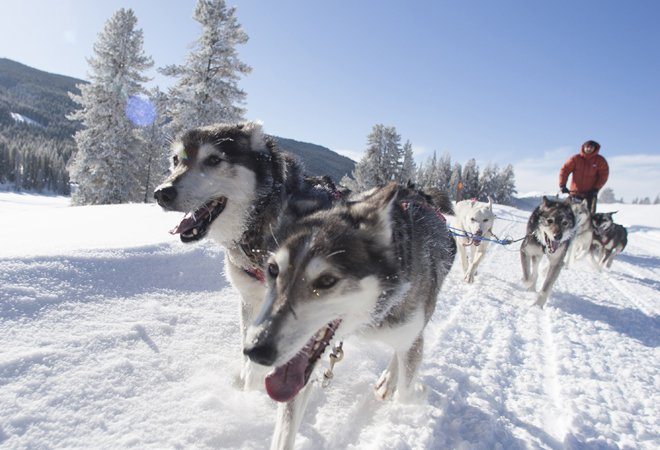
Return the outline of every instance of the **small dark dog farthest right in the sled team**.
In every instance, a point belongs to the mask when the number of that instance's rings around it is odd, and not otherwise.
[[[591,258],[599,270],[612,267],[614,257],[628,244],[628,231],[612,220],[615,213],[596,213],[591,219],[594,227]]]

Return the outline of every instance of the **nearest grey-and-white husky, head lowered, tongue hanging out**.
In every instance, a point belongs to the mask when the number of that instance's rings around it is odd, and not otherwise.
[[[451,202],[434,199],[391,183],[285,230],[268,260],[266,298],[244,348],[274,368],[266,391],[287,402],[271,448],[293,447],[305,385],[335,335],[358,332],[394,348],[374,387],[378,397],[405,401],[423,391],[415,381],[423,330],[456,253],[440,214],[451,213]]]

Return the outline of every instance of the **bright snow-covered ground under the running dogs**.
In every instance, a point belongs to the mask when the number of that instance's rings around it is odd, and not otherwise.
[[[297,448],[660,448],[660,206],[616,207],[625,253],[564,270],[544,310],[520,288],[519,244],[491,246],[474,285],[455,264],[426,404],[377,401],[387,348],[345,342]],[[524,234],[529,212],[496,212],[500,237]],[[179,219],[0,193],[0,447],[267,447],[274,403],[234,386],[222,251],[170,236]]]

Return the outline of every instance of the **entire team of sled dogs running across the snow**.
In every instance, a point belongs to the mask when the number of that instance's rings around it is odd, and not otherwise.
[[[454,206],[443,192],[395,183],[349,192],[329,177],[305,176],[253,122],[190,130],[173,152],[154,196],[185,213],[171,231],[183,242],[208,236],[225,248],[226,276],[241,297],[241,382],[265,386],[278,402],[271,448],[293,448],[316,363],[351,334],[393,349],[374,386],[378,398],[423,398],[416,375],[424,328],[457,251],[464,280],[474,281],[494,240],[490,199]],[[535,289],[545,255],[541,307],[565,260],[590,254],[610,267],[626,245],[614,213],[594,213],[594,196],[583,198],[544,197],[529,218],[523,283]]]

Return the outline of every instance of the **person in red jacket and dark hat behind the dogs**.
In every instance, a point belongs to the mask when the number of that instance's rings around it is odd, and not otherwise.
[[[600,144],[587,141],[582,144],[580,153],[573,155],[561,166],[559,171],[559,189],[576,199],[587,199],[591,213],[596,212],[598,191],[607,182],[610,168],[607,161],[598,154]],[[571,187],[566,187],[568,176],[573,174]]]

